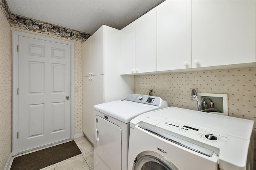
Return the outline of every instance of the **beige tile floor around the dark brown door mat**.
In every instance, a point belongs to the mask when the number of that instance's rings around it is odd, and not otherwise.
[[[43,168],[41,170],[92,170],[93,169],[93,146],[92,144],[88,141],[88,139],[83,136],[81,138],[76,138],[74,140],[81,150],[82,154],[79,154],[77,156],[74,156],[72,158],[63,160],[62,162],[58,162],[56,164],[50,165],[46,168]],[[68,142],[68,141],[65,141]],[[55,144],[56,145],[56,144]],[[54,146],[54,145],[52,145]],[[48,146],[51,147],[51,146]],[[47,148],[47,147],[46,147]],[[44,148],[41,148],[44,149]],[[31,151],[31,152],[35,152]],[[30,152],[26,152],[23,154],[19,154],[17,156],[22,156],[24,154],[28,154]],[[17,156],[12,157],[12,160],[10,162],[10,166],[8,170],[10,170],[12,166],[12,161],[14,158]]]

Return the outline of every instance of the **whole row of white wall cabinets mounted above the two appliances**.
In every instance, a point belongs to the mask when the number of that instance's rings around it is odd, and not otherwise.
[[[120,74],[255,67],[255,30],[256,0],[166,0],[121,30]]]

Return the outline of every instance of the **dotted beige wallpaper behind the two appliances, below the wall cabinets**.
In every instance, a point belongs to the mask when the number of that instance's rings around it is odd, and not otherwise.
[[[196,101],[190,99],[192,89],[227,94],[228,115],[253,120],[256,137],[256,67],[136,75],[134,86],[134,93],[144,95],[154,87],[154,95],[166,100],[168,106],[192,110],[197,110]],[[255,138],[254,143],[256,148]]]

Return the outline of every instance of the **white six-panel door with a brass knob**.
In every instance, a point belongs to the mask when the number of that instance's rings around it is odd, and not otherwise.
[[[70,138],[71,47],[24,36],[18,45],[20,153]]]

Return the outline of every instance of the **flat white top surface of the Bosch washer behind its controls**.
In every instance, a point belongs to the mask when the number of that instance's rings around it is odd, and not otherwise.
[[[228,134],[245,140],[250,140],[254,124],[254,121],[248,119],[215,115],[177,107],[168,107],[154,111],[152,114],[184,123],[187,122],[196,127],[215,130],[222,134]]]

